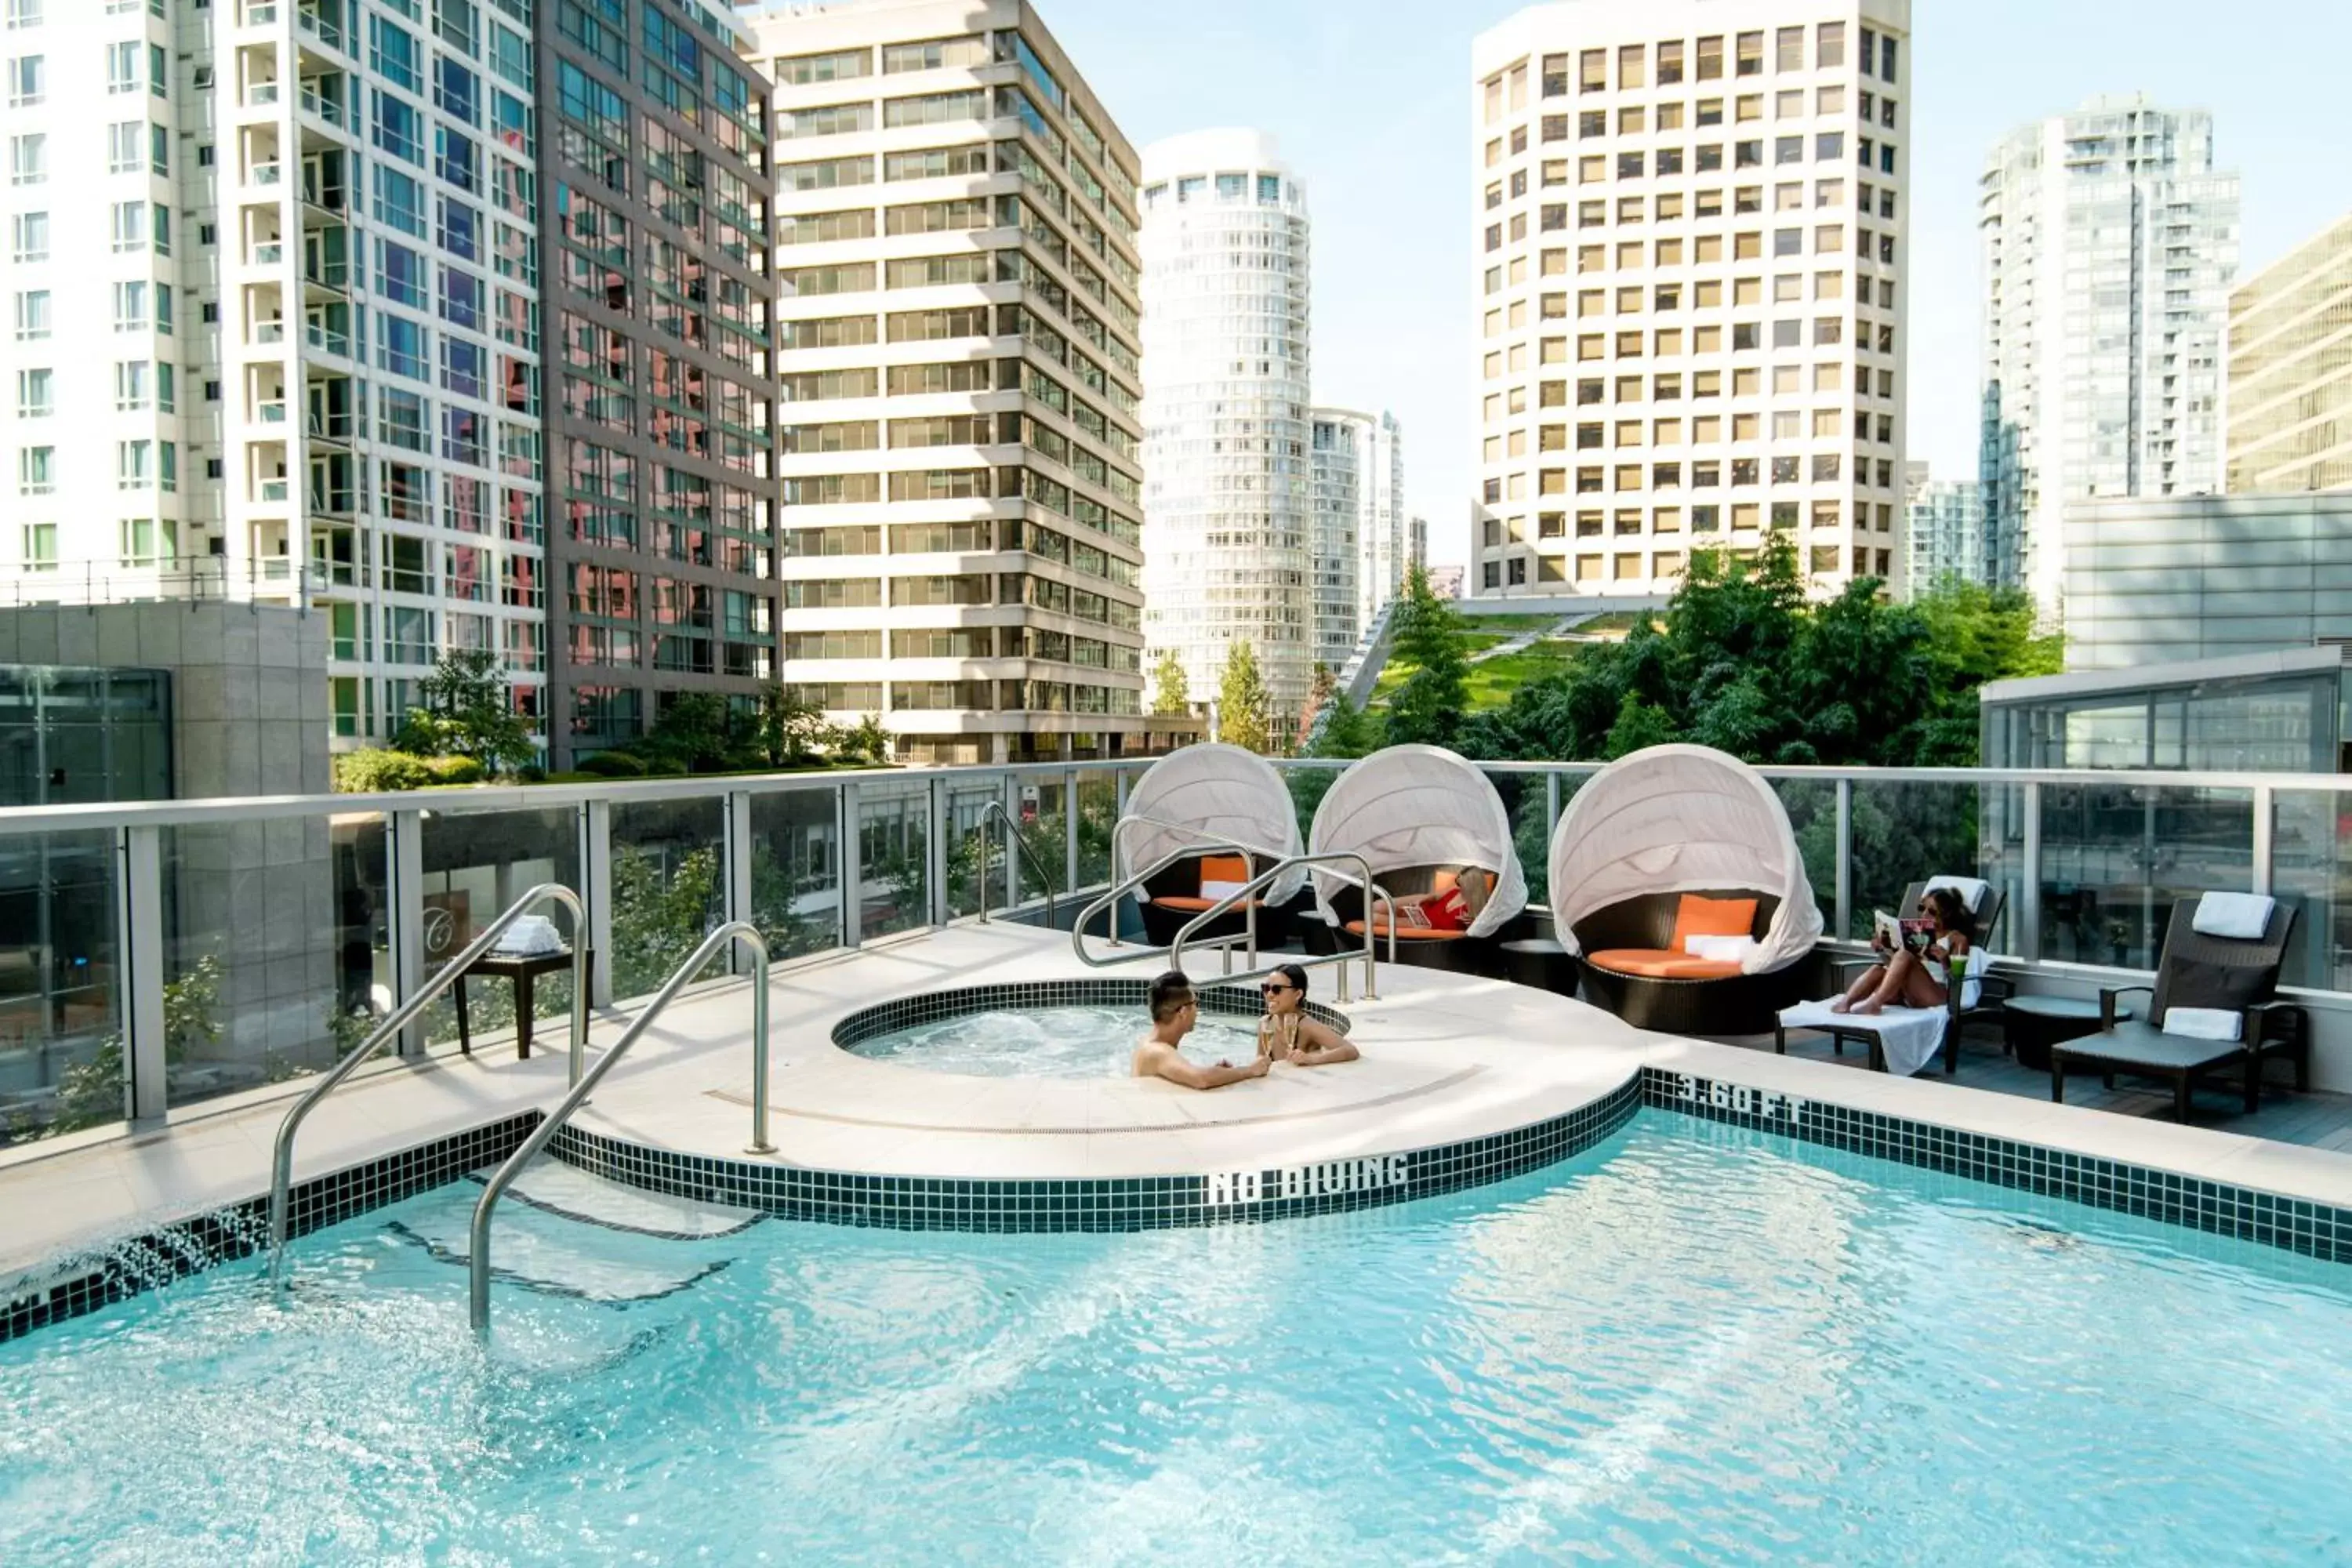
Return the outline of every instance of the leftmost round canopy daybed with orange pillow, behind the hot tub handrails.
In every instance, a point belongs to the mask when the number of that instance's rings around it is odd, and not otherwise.
[[[1298,809],[1282,773],[1265,757],[1240,745],[1204,741],[1169,752],[1127,792],[1127,811],[1115,835],[1117,879],[1150,867],[1188,849],[1209,853],[1183,856],[1136,889],[1143,905],[1143,931],[1155,947],[1167,947],[1188,919],[1232,893],[1277,860],[1298,851]],[[1258,945],[1284,947],[1291,938],[1291,905],[1305,889],[1305,867],[1284,872],[1258,896]],[[1197,938],[1242,931],[1240,910],[1202,926]]]

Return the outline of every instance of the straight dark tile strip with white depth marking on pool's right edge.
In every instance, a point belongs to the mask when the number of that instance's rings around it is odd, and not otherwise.
[[[1642,1067],[1639,1086],[1642,1105],[1651,1110],[1729,1121],[1799,1143],[1966,1175],[1994,1187],[2072,1199],[2326,1262],[2352,1262],[2352,1208],[2209,1182],[2122,1159],[2067,1154],[2016,1138],[1962,1133],[1933,1121],[1846,1110],[1665,1067]]]

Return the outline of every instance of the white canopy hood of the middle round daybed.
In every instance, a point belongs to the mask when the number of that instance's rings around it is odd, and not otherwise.
[[[1494,896],[1470,936],[1494,936],[1526,907],[1526,872],[1510,844],[1510,811],[1494,783],[1442,745],[1390,745],[1331,785],[1308,835],[1315,853],[1350,849],[1381,872],[1418,865],[1475,865],[1494,872]],[[1341,872],[1341,875],[1334,875]],[[1331,893],[1350,867],[1315,867],[1315,905],[1331,917]]]

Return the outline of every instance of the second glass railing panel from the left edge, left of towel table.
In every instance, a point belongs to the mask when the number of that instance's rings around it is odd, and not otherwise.
[[[303,1077],[390,1011],[383,816],[162,830],[165,1103]]]

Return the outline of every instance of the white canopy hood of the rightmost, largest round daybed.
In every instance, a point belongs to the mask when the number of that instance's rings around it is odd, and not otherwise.
[[[1820,907],[1788,809],[1752,766],[1708,745],[1651,745],[1585,780],[1552,832],[1552,924],[1642,893],[1743,889],[1780,900],[1745,973],[1783,969],[1820,940]]]

